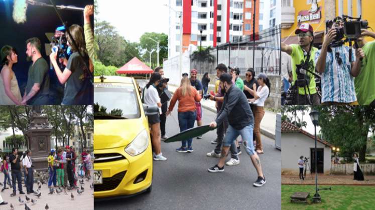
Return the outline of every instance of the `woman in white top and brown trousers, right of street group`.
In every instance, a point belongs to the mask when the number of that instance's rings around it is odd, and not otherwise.
[[[253,102],[256,105],[254,111],[254,135],[255,140],[257,142],[256,151],[258,154],[263,154],[263,145],[261,140],[261,121],[263,116],[265,115],[265,109],[263,106],[265,105],[265,101],[270,96],[270,87],[271,83],[268,79],[267,75],[264,73],[260,73],[258,75],[258,89],[253,87],[253,90],[250,91],[254,98],[248,99],[248,101]]]

